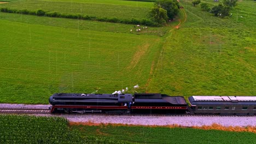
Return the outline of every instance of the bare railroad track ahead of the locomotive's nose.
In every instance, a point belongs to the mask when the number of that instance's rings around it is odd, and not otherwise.
[[[50,113],[49,109],[0,108],[0,113]]]

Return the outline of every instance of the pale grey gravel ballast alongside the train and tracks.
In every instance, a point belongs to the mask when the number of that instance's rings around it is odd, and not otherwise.
[[[5,108],[48,109],[51,105],[0,104]],[[139,115],[104,115],[104,114],[33,114],[36,116],[57,116],[67,118],[69,122],[132,124],[132,125],[173,125],[184,127],[212,125],[225,127],[256,126],[256,116],[139,116]]]

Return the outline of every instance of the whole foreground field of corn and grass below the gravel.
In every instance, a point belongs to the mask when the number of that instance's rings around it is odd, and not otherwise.
[[[193,128],[69,125],[64,118],[26,115],[0,115],[0,120],[1,143],[255,143],[256,135]]]

